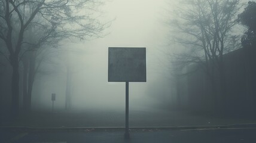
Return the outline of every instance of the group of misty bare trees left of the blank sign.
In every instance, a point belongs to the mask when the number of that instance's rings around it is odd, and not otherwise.
[[[19,99],[22,97],[23,110],[31,110],[33,82],[42,71],[41,64],[52,62],[51,55],[57,57],[66,50],[60,48],[65,39],[84,40],[100,37],[108,24],[100,23],[96,17],[96,1],[1,1],[1,69],[11,67],[11,78],[1,80],[3,86],[11,86],[10,91],[1,95],[11,97],[11,116],[19,114]],[[81,11],[83,10],[83,11]],[[55,48],[55,49],[54,49]],[[53,54],[55,52],[55,54]],[[71,67],[68,57],[62,61],[66,66],[66,97],[70,96],[69,80]],[[48,60],[48,61],[47,61]],[[6,66],[5,64],[9,64]],[[47,68],[45,68],[47,69]],[[5,77],[2,77],[3,79]],[[11,81],[11,85],[8,85]],[[20,96],[22,95],[22,96]],[[10,99],[10,98],[9,98]],[[68,108],[69,101],[66,101]]]

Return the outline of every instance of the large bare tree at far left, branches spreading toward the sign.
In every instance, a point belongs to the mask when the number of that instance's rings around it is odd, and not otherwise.
[[[89,36],[100,36],[105,28],[92,10],[97,2],[93,0],[1,0],[0,1],[0,39],[8,49],[8,59],[13,67],[12,74],[12,108],[11,114],[15,119],[19,114],[19,61],[27,50],[36,49],[42,43],[50,43],[63,38],[86,39]],[[86,13],[87,12],[87,13]],[[38,19],[42,19],[38,21]],[[25,41],[31,27],[42,30],[37,41]],[[32,30],[33,33],[33,30]],[[25,43],[32,45],[28,48]]]

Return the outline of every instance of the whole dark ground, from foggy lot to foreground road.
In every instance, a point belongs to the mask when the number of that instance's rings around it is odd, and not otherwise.
[[[256,142],[255,119],[213,117],[156,109],[131,110],[131,138],[125,140],[124,117],[124,111],[115,110],[35,112],[20,117],[17,122],[3,123],[0,126],[0,143]]]

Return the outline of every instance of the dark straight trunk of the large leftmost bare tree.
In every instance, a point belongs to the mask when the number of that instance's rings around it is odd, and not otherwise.
[[[19,116],[19,60],[18,55],[11,56],[13,75],[11,79],[11,118],[16,120]]]

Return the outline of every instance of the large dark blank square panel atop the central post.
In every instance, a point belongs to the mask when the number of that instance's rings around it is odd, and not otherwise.
[[[146,82],[146,48],[108,48],[108,82]]]

